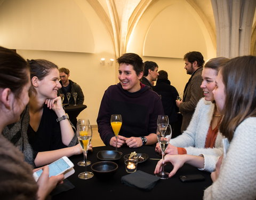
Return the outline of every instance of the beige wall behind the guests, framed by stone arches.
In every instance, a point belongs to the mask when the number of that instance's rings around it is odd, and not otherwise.
[[[1,2],[0,45],[17,49],[26,59],[47,59],[59,67],[69,68],[70,79],[82,87],[84,104],[87,105],[78,117],[89,118],[91,124],[96,124],[104,91],[109,85],[118,82],[118,66],[115,63],[113,66],[108,65],[110,58],[115,59],[115,50],[104,20],[85,0]],[[171,11],[174,8],[179,10],[173,13]],[[184,9],[186,15],[182,14]],[[183,20],[196,25],[194,29],[190,28],[184,33],[186,26],[183,22],[174,20],[179,19],[179,13],[183,15]],[[188,19],[190,15],[193,18]],[[182,30],[188,41],[196,38],[198,45],[188,47],[187,42],[182,40],[173,44],[173,37],[179,36],[178,30]],[[161,31],[167,34],[159,34]],[[156,48],[154,38],[162,46]],[[178,50],[179,55],[174,55]],[[134,28],[126,47],[126,52],[138,53],[145,61],[157,62],[159,70],[164,69],[169,73],[171,83],[179,92],[183,91],[189,78],[183,69],[182,56],[195,50],[202,51],[206,59],[215,56],[215,48],[204,23],[185,0],[162,0],[149,6]],[[100,64],[100,58],[106,58],[105,66]]]

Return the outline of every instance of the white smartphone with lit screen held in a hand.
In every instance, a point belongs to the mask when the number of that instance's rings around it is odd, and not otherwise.
[[[62,158],[58,159],[57,161],[54,161],[51,163],[49,166],[49,177],[52,175],[59,175],[59,174],[64,174],[64,178],[66,179],[69,177],[71,174],[75,173],[74,170],[74,164],[68,159],[67,156],[63,156]],[[35,180],[37,181],[38,178],[41,176],[43,173],[43,170],[38,170],[33,173],[33,176]]]

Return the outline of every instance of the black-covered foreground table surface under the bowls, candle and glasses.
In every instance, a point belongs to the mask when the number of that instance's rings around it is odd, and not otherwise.
[[[100,161],[97,158],[97,153],[100,150],[115,150],[110,146],[94,147],[93,153],[88,153],[88,160],[92,163]],[[147,161],[138,164],[138,169],[143,172],[154,174],[157,160],[150,158],[160,158],[155,153],[154,146],[142,146],[140,148],[122,147],[118,149],[123,155],[130,154],[133,151],[137,153],[146,153],[149,155]],[[185,164],[178,170],[174,177],[165,180],[159,180],[155,187],[150,191],[141,190],[134,187],[129,187],[121,183],[121,177],[126,175],[124,168],[123,156],[118,161],[118,170],[108,180],[101,180],[94,175],[88,180],[81,180],[77,175],[84,171],[84,167],[78,166],[77,162],[83,159],[82,155],[71,156],[70,160],[74,163],[75,173],[67,179],[73,183],[74,189],[62,192],[52,196],[52,199],[203,199],[204,189],[212,184],[209,172],[199,171],[196,167]],[[165,171],[172,169],[172,165],[166,165]],[[92,171],[90,166],[87,166],[87,171]],[[204,181],[198,182],[181,182],[180,175],[186,174],[202,174],[205,177]]]

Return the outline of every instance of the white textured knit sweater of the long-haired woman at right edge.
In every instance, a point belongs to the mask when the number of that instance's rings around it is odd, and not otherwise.
[[[204,191],[204,199],[256,199],[256,117],[237,126],[217,180]]]

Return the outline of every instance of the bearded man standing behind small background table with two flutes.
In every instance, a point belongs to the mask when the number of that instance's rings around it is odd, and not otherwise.
[[[62,87],[58,90],[58,96],[60,94],[64,94],[63,104],[68,103],[67,92],[70,92],[70,94],[71,94],[70,99],[69,99],[69,105],[75,104],[75,99],[73,97],[74,92],[77,93],[76,104],[83,104],[83,102],[84,102],[83,91],[77,83],[68,79],[69,78],[69,69],[60,68],[59,72],[60,72],[60,84]]]

